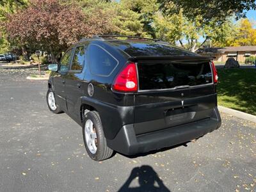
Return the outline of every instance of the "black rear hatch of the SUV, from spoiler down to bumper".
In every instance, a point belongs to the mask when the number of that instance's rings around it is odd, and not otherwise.
[[[138,71],[136,134],[211,118],[217,104],[211,58],[138,56],[130,60]]]

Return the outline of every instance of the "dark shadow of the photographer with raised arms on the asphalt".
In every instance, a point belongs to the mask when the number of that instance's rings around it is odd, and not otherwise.
[[[132,181],[138,179],[140,186],[130,187]],[[163,181],[158,177],[157,173],[151,166],[142,165],[141,167],[133,168],[129,178],[125,181],[124,185],[118,192],[124,191],[163,191],[170,192]]]

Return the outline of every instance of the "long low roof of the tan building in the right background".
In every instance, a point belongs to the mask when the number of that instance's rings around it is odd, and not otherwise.
[[[239,46],[239,47],[208,47],[205,49],[198,49],[201,52],[237,52],[237,51],[256,51],[256,46]]]

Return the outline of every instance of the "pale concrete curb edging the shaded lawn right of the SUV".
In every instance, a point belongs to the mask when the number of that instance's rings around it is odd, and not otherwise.
[[[236,116],[237,118],[241,118],[241,119],[248,120],[250,122],[256,123],[256,116],[255,115],[250,115],[248,113],[237,111],[235,109],[225,108],[223,106],[218,106],[218,109],[219,109],[220,112],[227,113],[229,115]]]

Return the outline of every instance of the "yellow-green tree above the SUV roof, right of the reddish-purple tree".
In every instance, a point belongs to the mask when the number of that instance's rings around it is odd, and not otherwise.
[[[137,1],[137,0],[136,0]],[[73,0],[63,0],[65,4],[73,4]],[[76,5],[83,10],[86,18],[97,17],[101,20],[104,34],[147,36],[143,29],[142,14],[135,12],[130,1],[78,0]],[[95,34],[96,35],[96,34]]]

